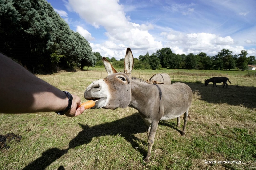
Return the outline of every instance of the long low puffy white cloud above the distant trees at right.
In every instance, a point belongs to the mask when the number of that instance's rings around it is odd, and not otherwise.
[[[198,54],[204,52],[207,55],[216,55],[222,49],[229,49],[233,54],[240,54],[243,46],[233,46],[234,40],[230,37],[221,37],[210,33],[184,34],[177,31],[162,32],[161,35],[167,40],[165,47],[170,47],[176,54]]]

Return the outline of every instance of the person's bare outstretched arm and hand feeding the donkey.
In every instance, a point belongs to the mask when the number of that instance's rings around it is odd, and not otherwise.
[[[0,113],[33,113],[64,110],[68,98],[64,92],[36,77],[20,64],[0,53]],[[83,113],[81,99],[72,94],[66,116]]]

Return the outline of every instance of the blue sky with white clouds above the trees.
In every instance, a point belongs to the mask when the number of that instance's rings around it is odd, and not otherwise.
[[[256,56],[255,0],[47,0],[104,57],[222,49]]]

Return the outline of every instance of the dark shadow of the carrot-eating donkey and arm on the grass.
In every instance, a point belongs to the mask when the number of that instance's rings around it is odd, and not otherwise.
[[[137,133],[145,133],[146,126],[141,119],[139,113],[135,113],[128,117],[118,119],[110,123],[103,123],[89,127],[88,125],[79,124],[82,127],[82,131],[69,142],[69,147],[67,149],[51,148],[42,153],[42,156],[28,164],[23,170],[30,169],[45,169],[47,166],[51,165],[55,160],[63,156],[68,152],[69,149],[75,148],[83,144],[88,144],[92,141],[93,137],[100,137],[105,135],[116,135],[124,137],[134,149],[137,149],[144,156],[147,155],[147,151],[138,143],[141,142],[143,145],[147,146],[147,141],[143,141],[134,136]],[[163,124],[162,124],[163,125]],[[164,123],[175,130],[176,127]],[[179,131],[179,130],[178,130]],[[180,131],[179,131],[180,132]],[[145,135],[147,135],[145,133]]]

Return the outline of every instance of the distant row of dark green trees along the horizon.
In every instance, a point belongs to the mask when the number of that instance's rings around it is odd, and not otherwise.
[[[242,50],[239,55],[233,55],[229,49],[222,49],[215,56],[208,56],[206,53],[200,52],[199,54],[175,54],[170,48],[162,48],[149,55],[140,55],[135,59],[135,69],[160,69],[164,68],[183,68],[183,69],[202,69],[202,70],[230,70],[239,68],[242,70],[247,69],[247,65],[256,65],[255,56],[246,57],[247,51]],[[116,61],[114,57],[108,58],[115,67],[123,67],[123,59]],[[100,57],[97,60],[97,65],[100,62]]]

